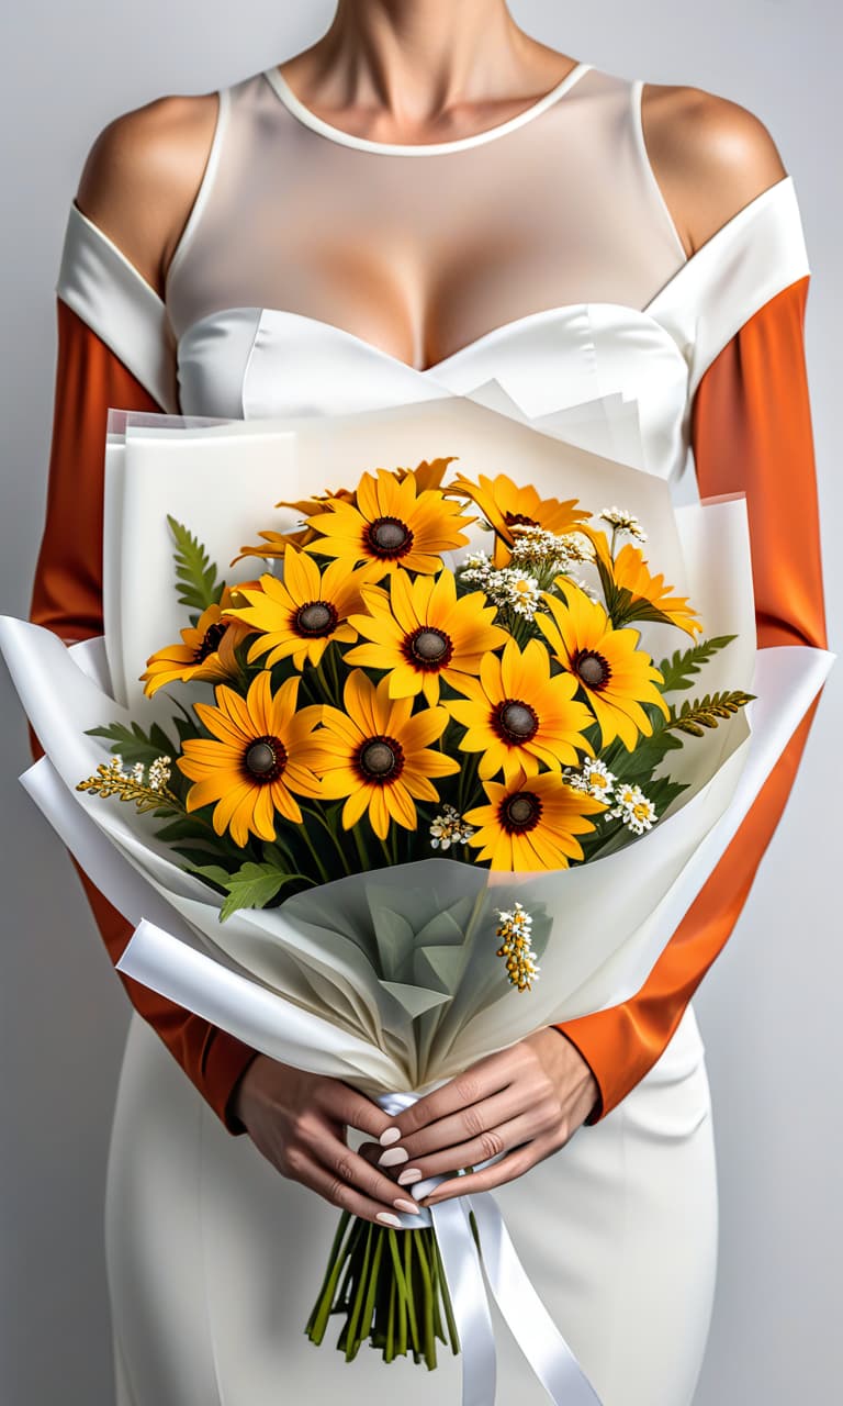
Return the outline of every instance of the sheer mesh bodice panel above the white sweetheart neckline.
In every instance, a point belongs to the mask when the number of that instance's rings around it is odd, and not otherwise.
[[[329,127],[278,69],[225,89],[167,278],[176,336],[278,308],[424,368],[542,309],[645,308],[686,253],[641,89],[580,63],[509,122],[406,148]]]

